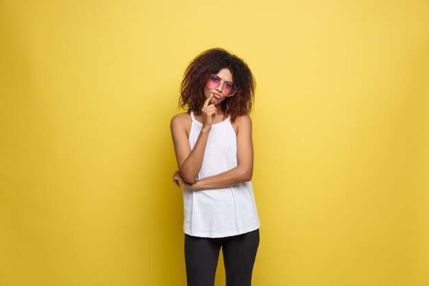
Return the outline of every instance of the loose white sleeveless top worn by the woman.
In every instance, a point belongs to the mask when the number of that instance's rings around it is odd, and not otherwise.
[[[189,134],[191,150],[203,124],[195,120]],[[230,117],[212,124],[197,180],[215,176],[237,166],[236,134]],[[191,191],[183,187],[184,233],[195,237],[229,237],[259,228],[252,182],[221,189]]]

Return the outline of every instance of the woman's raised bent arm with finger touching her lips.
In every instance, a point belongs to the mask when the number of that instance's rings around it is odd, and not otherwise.
[[[199,132],[197,142],[191,151],[189,146],[188,136],[186,135],[186,124],[188,120],[185,117],[176,115],[171,119],[171,136],[173,137],[173,144],[175,150],[175,156],[177,160],[177,166],[179,167],[180,176],[182,176],[185,182],[193,184],[201,165],[203,164],[204,151],[206,150],[206,144],[208,139],[208,133],[212,127],[212,116],[216,115],[216,107],[213,104],[208,105],[212,95],[204,102],[201,112],[203,115],[203,128]]]

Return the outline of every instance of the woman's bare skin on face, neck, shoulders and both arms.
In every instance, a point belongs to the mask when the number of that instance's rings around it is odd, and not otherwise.
[[[173,182],[180,187],[182,182],[188,189],[219,189],[231,187],[241,182],[252,179],[253,173],[253,143],[252,143],[252,120],[249,115],[237,117],[232,128],[237,136],[237,167],[215,176],[195,180],[203,163],[204,151],[208,134],[212,124],[219,123],[227,117],[223,114],[221,102],[225,96],[221,93],[224,82],[232,82],[232,73],[229,69],[221,69],[217,76],[221,78],[221,84],[217,88],[204,88],[204,102],[201,111],[195,112],[195,119],[203,123],[203,127],[193,150],[189,146],[188,138],[191,132],[192,119],[188,112],[175,115],[171,119],[171,135],[179,170],[173,174]],[[235,95],[234,95],[235,96]]]

